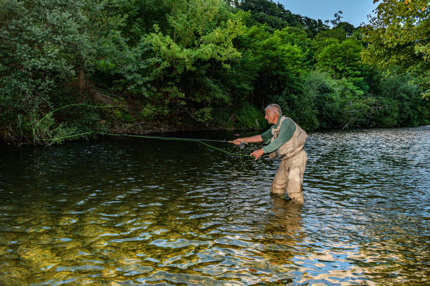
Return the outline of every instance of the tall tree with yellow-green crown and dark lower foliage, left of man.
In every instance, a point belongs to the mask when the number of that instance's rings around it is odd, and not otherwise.
[[[240,57],[233,39],[242,31],[241,19],[221,0],[169,0],[167,6],[170,28],[162,31],[156,25],[146,38],[159,59],[152,71],[151,96],[160,111],[179,110],[190,103],[183,108],[204,121],[211,117],[212,102],[229,100],[211,67],[229,69],[229,61]],[[148,108],[155,110],[154,104]]]

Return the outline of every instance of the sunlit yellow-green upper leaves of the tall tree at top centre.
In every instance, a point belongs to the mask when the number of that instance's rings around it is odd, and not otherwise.
[[[175,72],[182,74],[195,70],[198,60],[224,63],[240,57],[232,43],[241,31],[240,21],[219,18],[219,23],[214,22],[220,1],[169,1],[169,6],[173,31],[148,35],[152,48],[164,60],[160,69],[174,67]]]

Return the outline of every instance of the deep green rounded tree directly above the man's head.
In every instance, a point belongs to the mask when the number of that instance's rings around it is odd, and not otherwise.
[[[260,25],[248,29],[240,39],[240,50],[252,60],[255,73],[251,100],[254,105],[263,107],[273,96],[297,90],[310,46],[304,30],[287,27],[270,34]]]

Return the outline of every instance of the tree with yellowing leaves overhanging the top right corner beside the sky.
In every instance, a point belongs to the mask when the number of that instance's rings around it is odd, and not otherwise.
[[[430,95],[430,5],[427,0],[374,0],[377,15],[364,27],[367,62],[402,67]]]

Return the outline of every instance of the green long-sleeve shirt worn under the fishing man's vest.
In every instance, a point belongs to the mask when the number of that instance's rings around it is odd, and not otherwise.
[[[282,121],[278,138],[271,142],[273,136],[272,129],[278,127],[279,121],[280,118],[278,118],[278,122],[276,123],[276,125],[273,124],[269,130],[261,134],[261,139],[263,139],[263,143],[268,144],[263,147],[263,151],[265,154],[272,153],[273,151],[278,150],[279,147],[281,147],[285,142],[291,139],[292,135],[294,134],[294,131],[296,130],[296,125],[294,125],[294,122],[289,118],[285,118],[284,121]]]

